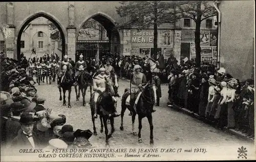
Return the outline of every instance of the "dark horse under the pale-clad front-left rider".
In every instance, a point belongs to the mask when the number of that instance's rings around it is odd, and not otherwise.
[[[95,92],[92,94],[91,97],[91,113],[92,113],[92,121],[93,121],[93,134],[97,135],[97,131],[95,128],[95,119],[93,118],[93,115],[95,113],[95,104],[97,104],[98,110],[97,110],[97,114],[99,114],[100,116],[100,124],[101,124],[101,129],[100,132],[103,132],[103,124],[104,124],[104,128],[105,128],[105,135],[106,135],[106,146],[109,146],[109,138],[111,137],[111,135],[114,133],[115,128],[114,128],[114,113],[115,113],[115,102],[112,99],[112,96],[115,95],[115,91],[113,88],[113,83],[110,79],[106,79],[105,78],[105,91],[104,92],[100,92],[99,91],[99,97],[98,97],[98,101],[97,103],[94,102],[94,95]],[[109,133],[108,130],[108,125],[107,125],[107,121],[108,119],[110,119],[111,122],[111,134]]]

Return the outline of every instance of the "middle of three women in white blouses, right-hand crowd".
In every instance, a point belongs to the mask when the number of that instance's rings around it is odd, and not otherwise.
[[[218,127],[222,129],[226,125],[226,111],[227,111],[227,83],[221,82],[222,90],[220,92],[221,98],[218,102],[218,108],[215,114],[215,119],[218,120]]]

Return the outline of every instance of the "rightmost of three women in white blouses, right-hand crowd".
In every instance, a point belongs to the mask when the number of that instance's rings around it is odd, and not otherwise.
[[[236,89],[234,89],[234,84],[231,82],[227,82],[227,128],[234,128],[234,109],[233,102],[235,99]]]

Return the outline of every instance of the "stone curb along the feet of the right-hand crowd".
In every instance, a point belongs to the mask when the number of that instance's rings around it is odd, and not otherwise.
[[[173,107],[170,107],[170,108],[173,108],[173,109],[176,109],[178,111],[181,111],[184,114],[190,115],[191,117],[196,118],[196,119],[204,122],[207,125],[210,125],[209,121],[203,120],[198,114],[196,114],[194,112],[191,112],[191,111],[189,111],[189,110],[187,110],[185,108],[181,108],[181,107],[179,107],[179,106],[177,106],[175,104],[174,104]],[[243,140],[246,140],[246,141],[254,143],[254,140],[252,138],[247,137],[245,134],[243,134],[243,133],[241,133],[239,131],[235,131],[234,129],[227,129],[227,128],[224,128],[223,130],[224,130],[224,132],[227,132],[227,133],[232,134],[232,135],[236,135],[237,137],[239,137],[239,138],[241,138]]]

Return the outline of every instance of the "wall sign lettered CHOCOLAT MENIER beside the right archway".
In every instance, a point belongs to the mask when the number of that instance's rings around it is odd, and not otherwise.
[[[132,47],[153,47],[154,30],[131,30]]]

